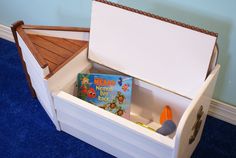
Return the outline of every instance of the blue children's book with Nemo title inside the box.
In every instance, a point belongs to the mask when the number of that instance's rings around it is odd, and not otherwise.
[[[77,86],[80,99],[129,119],[132,77],[79,73]]]

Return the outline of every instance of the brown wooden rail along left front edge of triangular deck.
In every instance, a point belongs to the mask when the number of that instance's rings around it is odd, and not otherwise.
[[[38,50],[34,47],[33,43],[27,36],[27,34],[24,32],[22,26],[18,26],[16,28],[16,31],[19,33],[21,38],[24,40],[25,44],[29,48],[30,52],[33,54],[35,59],[38,61],[41,68],[46,68],[48,66],[48,63],[43,59],[43,57],[39,54]]]

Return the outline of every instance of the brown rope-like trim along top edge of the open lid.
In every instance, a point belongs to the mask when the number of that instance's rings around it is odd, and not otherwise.
[[[164,17],[158,16],[158,15],[155,15],[155,14],[144,12],[142,10],[138,10],[138,9],[134,9],[134,8],[131,8],[131,7],[123,6],[123,5],[120,5],[120,4],[117,4],[117,3],[109,2],[107,0],[95,0],[95,1],[107,4],[107,5],[110,5],[110,6],[114,6],[114,7],[117,7],[117,8],[121,8],[121,9],[124,9],[124,10],[128,10],[128,11],[131,11],[131,12],[134,12],[134,13],[137,13],[137,14],[141,14],[141,15],[144,15],[144,16],[147,16],[147,17],[150,17],[150,18],[154,18],[154,19],[158,19],[158,20],[161,20],[161,21],[164,21],[164,22],[168,22],[168,23],[171,23],[171,24],[174,24],[174,25],[179,25],[181,27],[185,27],[185,28],[188,28],[188,29],[191,29],[191,30],[194,30],[194,31],[204,33],[204,34],[208,34],[208,35],[211,35],[211,36],[218,37],[218,34],[215,33],[215,32],[211,32],[211,31],[208,31],[208,30],[196,27],[196,26],[188,25],[188,24],[178,22],[178,21],[175,21],[175,20],[172,20],[172,19],[168,19],[168,18],[164,18]]]

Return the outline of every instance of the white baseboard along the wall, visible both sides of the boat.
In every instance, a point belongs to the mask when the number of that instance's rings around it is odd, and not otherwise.
[[[0,37],[14,42],[11,28],[0,24]],[[212,99],[208,115],[236,125],[236,107]]]

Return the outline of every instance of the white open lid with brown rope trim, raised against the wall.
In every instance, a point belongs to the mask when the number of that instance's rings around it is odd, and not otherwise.
[[[213,32],[97,0],[88,58],[193,98],[207,76],[216,39]]]

